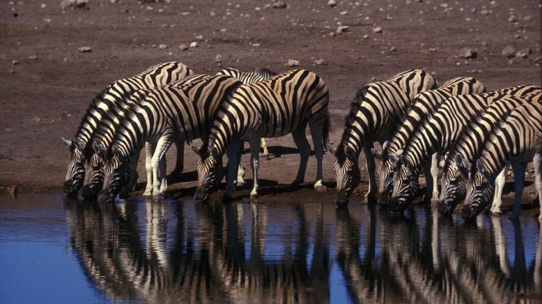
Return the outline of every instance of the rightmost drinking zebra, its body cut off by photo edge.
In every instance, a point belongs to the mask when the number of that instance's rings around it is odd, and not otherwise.
[[[463,218],[476,218],[488,206],[495,190],[495,177],[506,163],[523,164],[513,168],[514,178],[523,181],[525,166],[530,161],[534,162],[536,192],[542,199],[542,102],[520,105],[488,136],[467,181]],[[518,218],[521,208],[518,197],[522,195],[523,183],[516,183],[514,192],[516,201],[511,218]],[[542,221],[542,204],[540,208],[539,220]]]

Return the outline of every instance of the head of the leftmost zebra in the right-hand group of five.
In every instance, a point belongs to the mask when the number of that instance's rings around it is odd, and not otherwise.
[[[348,204],[348,198],[359,185],[361,179],[361,173],[357,165],[357,155],[352,147],[346,145],[341,145],[337,149],[328,145],[327,149],[336,157],[333,167],[337,181],[335,204],[344,206]]]

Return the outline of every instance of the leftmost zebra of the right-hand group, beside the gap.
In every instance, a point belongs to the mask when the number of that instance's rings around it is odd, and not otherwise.
[[[365,196],[369,199],[375,197],[375,160],[371,153],[373,142],[382,144],[387,141],[412,99],[421,91],[435,89],[436,85],[435,79],[423,70],[407,70],[390,79],[367,84],[359,90],[350,105],[350,114],[346,116],[341,143],[337,149],[328,146],[336,157],[336,204],[348,204],[350,194],[359,185],[361,173],[357,159],[362,149],[369,172],[369,192]]]

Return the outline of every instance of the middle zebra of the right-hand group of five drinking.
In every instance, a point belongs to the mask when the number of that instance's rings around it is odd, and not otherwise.
[[[524,96],[539,89],[532,85],[513,86],[488,93],[454,96],[443,102],[419,126],[398,157],[389,210],[405,210],[419,189],[418,177],[424,163],[433,153],[442,155],[450,151],[467,123],[491,102],[506,96]]]

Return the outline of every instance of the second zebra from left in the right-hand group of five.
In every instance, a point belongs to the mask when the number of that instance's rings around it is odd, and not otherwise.
[[[428,114],[430,114],[437,105],[440,105],[444,100],[447,100],[451,96],[483,93],[485,91],[486,88],[477,79],[472,77],[457,77],[448,80],[438,89],[419,93],[414,100],[412,100],[412,106],[408,110],[406,116],[401,120],[401,123],[398,124],[394,131],[394,135],[384,144],[384,146],[382,146],[382,152],[371,149],[375,158],[381,160],[376,167],[378,179],[377,197],[380,206],[387,206],[388,197],[392,194],[392,177],[397,169],[394,160],[396,160],[398,154],[401,154],[405,144],[422,121],[426,119]],[[437,199],[435,193],[438,194],[438,188],[435,181],[438,177],[438,164],[433,161],[429,165],[431,165],[431,167],[424,167],[427,184],[426,197]],[[431,190],[433,192],[431,192]]]

